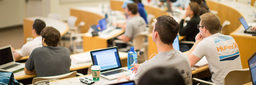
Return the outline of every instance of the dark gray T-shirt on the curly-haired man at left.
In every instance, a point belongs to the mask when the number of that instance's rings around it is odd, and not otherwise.
[[[35,69],[37,77],[56,76],[70,72],[70,50],[60,46],[35,48],[26,62],[29,71]]]

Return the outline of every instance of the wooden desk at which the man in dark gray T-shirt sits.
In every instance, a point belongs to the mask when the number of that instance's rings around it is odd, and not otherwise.
[[[91,56],[90,51],[82,52],[82,53],[84,53],[87,56]],[[78,54],[81,54],[81,53],[78,53]],[[72,55],[78,55],[78,54],[72,54]],[[126,67],[127,66],[127,53],[119,52],[119,57],[120,57],[122,66]],[[89,68],[92,64],[93,64],[92,62],[85,62],[85,63],[78,63],[78,64],[71,62],[70,71],[76,71],[76,70],[80,70],[80,69]],[[36,77],[36,75],[26,75],[24,73],[24,70],[14,73],[14,78],[16,80],[22,80],[22,79],[33,78],[33,77]]]

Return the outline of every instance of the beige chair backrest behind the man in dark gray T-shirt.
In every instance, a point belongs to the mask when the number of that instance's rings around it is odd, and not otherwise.
[[[57,76],[47,76],[47,77],[35,77],[32,80],[32,84],[34,84],[37,81],[42,81],[42,80],[49,80],[49,79],[64,79],[64,78],[70,78],[70,77],[75,77],[76,76],[76,71],[63,74],[63,75],[57,75]]]

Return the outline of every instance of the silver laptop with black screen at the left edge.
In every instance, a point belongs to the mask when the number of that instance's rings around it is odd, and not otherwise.
[[[0,71],[13,72],[24,67],[25,64],[15,62],[11,45],[0,48]]]

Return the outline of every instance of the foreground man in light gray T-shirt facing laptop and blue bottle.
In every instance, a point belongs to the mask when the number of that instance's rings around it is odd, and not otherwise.
[[[152,40],[157,44],[158,54],[152,59],[145,61],[141,65],[134,64],[135,76],[132,80],[138,83],[139,78],[146,71],[153,67],[172,67],[175,68],[183,77],[186,85],[191,85],[191,67],[187,56],[179,50],[173,48],[172,43],[176,38],[180,27],[179,24],[170,16],[160,16],[153,26]],[[127,81],[130,77],[120,76],[118,82]]]

